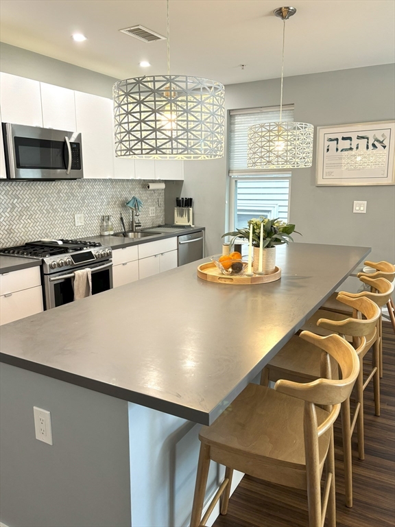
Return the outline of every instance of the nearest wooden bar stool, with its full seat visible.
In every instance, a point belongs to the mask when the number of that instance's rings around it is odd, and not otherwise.
[[[320,337],[303,331],[300,339],[324,351],[321,375],[326,378],[309,384],[279,380],[274,390],[249,384],[211,426],[202,427],[191,527],[204,526],[221,496],[221,513],[226,514],[234,469],[265,481],[306,489],[309,526],[322,527],[328,509],[328,525],[335,527],[333,423],[341,403],[350,397],[359,373],[359,359],[355,349],[338,335]],[[330,379],[329,355],[339,365],[342,380]],[[225,465],[226,472],[202,518],[211,460]]]

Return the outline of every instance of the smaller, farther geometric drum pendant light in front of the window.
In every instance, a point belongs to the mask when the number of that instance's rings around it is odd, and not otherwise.
[[[283,62],[281,67],[280,121],[256,124],[248,128],[248,167],[302,168],[313,164],[314,126],[308,123],[282,121],[285,21],[295,8],[278,8],[274,14],[283,20]]]

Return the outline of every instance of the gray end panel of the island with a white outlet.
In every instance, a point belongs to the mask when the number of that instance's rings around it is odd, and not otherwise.
[[[8,526],[130,527],[128,403],[1,364],[1,517]],[[34,434],[51,412],[53,445]]]

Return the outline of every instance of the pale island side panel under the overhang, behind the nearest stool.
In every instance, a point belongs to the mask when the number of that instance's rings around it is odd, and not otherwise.
[[[133,527],[187,527],[191,519],[201,425],[129,403]],[[211,462],[205,504],[224,480]],[[232,492],[243,478],[235,471]],[[207,526],[219,515],[219,504]]]

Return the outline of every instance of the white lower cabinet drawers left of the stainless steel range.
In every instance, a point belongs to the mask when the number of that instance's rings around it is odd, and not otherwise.
[[[0,275],[0,325],[43,311],[40,268]]]

